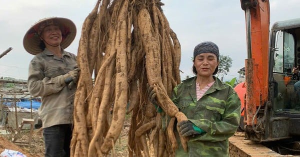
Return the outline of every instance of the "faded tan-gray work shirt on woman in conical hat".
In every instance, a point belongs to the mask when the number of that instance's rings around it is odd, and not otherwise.
[[[64,83],[63,75],[77,67],[76,56],[62,50],[61,58],[47,48],[35,55],[29,63],[28,90],[34,97],[41,97],[38,115],[42,128],[71,124],[75,86]]]

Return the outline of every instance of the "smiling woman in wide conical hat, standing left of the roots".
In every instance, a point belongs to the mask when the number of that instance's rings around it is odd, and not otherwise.
[[[79,76],[76,56],[66,52],[76,35],[67,18],[48,17],[34,23],[23,38],[24,49],[35,55],[29,63],[28,91],[41,97],[45,157],[69,157],[73,102]]]

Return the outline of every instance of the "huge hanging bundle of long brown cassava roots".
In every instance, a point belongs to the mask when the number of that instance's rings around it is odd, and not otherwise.
[[[187,118],[169,98],[180,83],[181,52],[161,5],[160,0],[98,0],[86,17],[77,53],[81,72],[71,157],[107,156],[126,114],[131,115],[129,157],[150,157],[149,148],[155,157],[174,156],[174,122]],[[147,85],[153,86],[163,113],[149,102]],[[163,130],[166,115],[171,119]],[[186,140],[180,138],[185,151]]]

